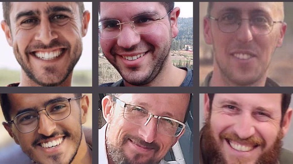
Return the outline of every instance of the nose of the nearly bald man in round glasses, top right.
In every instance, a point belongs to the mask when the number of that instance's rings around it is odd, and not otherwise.
[[[249,19],[241,19],[239,29],[236,31],[236,38],[242,43],[249,42],[253,39],[253,33]]]

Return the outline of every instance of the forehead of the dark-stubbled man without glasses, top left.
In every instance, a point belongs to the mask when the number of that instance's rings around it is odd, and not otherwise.
[[[45,12],[52,6],[66,6],[72,11],[78,9],[76,2],[11,2],[10,15],[14,18],[16,14],[21,11],[38,10],[40,12]]]

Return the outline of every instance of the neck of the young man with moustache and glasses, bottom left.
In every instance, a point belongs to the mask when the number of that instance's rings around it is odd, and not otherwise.
[[[76,156],[74,157],[74,160],[72,161],[72,164],[80,164],[80,163],[83,163],[83,164],[92,163],[92,151],[86,143],[84,132],[82,133],[81,142],[77,150]]]

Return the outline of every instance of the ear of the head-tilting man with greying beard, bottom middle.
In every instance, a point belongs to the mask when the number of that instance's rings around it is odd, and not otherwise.
[[[111,97],[109,95],[106,95],[102,99],[102,113],[103,113],[103,117],[107,121],[107,123],[109,123],[111,121],[112,117],[114,116],[114,109],[112,106]]]

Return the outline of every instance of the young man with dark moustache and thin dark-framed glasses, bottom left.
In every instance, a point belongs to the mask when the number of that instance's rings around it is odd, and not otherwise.
[[[5,129],[34,163],[92,163],[81,94],[1,94]],[[26,163],[23,161],[22,163]]]

